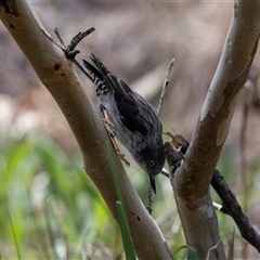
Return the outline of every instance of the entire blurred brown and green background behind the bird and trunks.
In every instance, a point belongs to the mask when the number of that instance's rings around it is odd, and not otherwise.
[[[226,1],[32,1],[56,40],[95,31],[80,44],[157,107],[174,57],[161,120],[188,141],[217,68],[233,16]],[[56,40],[57,41],[57,40]],[[54,100],[0,24],[0,256],[4,259],[122,259],[120,232],[82,170],[75,138]],[[39,53],[40,55],[40,53]],[[259,54],[237,104],[219,169],[259,227]],[[92,83],[77,68],[95,101]],[[246,142],[243,142],[245,140]],[[127,154],[126,151],[123,151]],[[127,155],[130,159],[129,155]],[[146,202],[146,174],[131,161],[129,178]],[[184,245],[171,186],[157,178],[153,214],[172,251]],[[212,191],[213,199],[221,203]],[[235,230],[236,255],[258,256],[230,217],[218,213],[225,246]],[[107,236],[109,234],[109,236]]]

